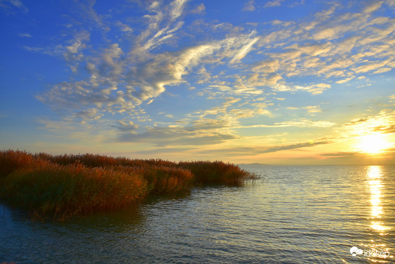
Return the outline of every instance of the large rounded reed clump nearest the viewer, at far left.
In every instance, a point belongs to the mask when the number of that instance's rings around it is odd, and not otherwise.
[[[1,200],[38,219],[114,211],[146,195],[148,182],[122,170],[39,160],[1,180]]]

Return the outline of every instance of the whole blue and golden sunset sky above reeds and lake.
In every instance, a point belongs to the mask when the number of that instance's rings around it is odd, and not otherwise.
[[[395,165],[395,0],[0,0],[0,149]]]

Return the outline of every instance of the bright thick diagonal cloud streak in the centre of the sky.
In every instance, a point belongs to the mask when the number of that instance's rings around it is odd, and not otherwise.
[[[248,52],[250,48],[248,45],[256,42],[256,40],[251,41],[253,34],[230,37],[224,40],[187,47],[178,52],[152,56],[151,61],[139,65],[135,75],[129,75],[129,77],[133,77],[134,84],[139,86],[137,97],[143,101],[157,97],[164,92],[166,85],[173,86],[184,83],[183,76],[189,75],[192,69],[199,64],[210,62],[212,59],[222,61],[229,57],[230,54],[235,54],[234,59],[235,57],[241,59]],[[244,45],[245,43],[248,43],[248,47]],[[241,50],[237,50],[240,46],[242,47]],[[201,68],[200,73],[209,76],[204,68]],[[135,82],[136,80],[137,83]],[[235,90],[249,92],[255,90],[255,88],[237,87]]]

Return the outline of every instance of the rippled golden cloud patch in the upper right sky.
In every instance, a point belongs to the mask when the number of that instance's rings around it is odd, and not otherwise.
[[[373,7],[379,8],[380,3],[365,10]],[[340,77],[342,79],[336,82],[344,84],[358,74],[392,70],[395,64],[392,64],[390,53],[395,40],[389,34],[394,32],[394,22],[387,17],[367,17],[363,13],[339,14],[336,11],[340,8],[341,5],[334,4],[318,12],[310,22],[272,21],[274,26],[281,25],[281,28],[261,36],[257,42],[257,47],[265,48],[265,52],[257,51],[265,59],[251,67],[251,71],[258,74],[255,78],[265,80],[269,74],[276,73],[279,77],[276,82],[266,85],[275,90],[295,91],[295,86],[287,84],[287,78]],[[296,86],[300,90],[306,88]],[[310,91],[319,94],[325,89]]]

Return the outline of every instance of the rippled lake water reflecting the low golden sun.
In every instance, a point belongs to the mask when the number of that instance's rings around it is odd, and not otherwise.
[[[88,218],[0,206],[0,263],[395,263],[395,166],[242,168],[264,180]]]

